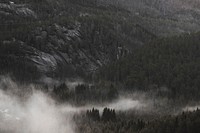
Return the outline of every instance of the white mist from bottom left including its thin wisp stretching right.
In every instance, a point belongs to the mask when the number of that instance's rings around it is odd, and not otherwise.
[[[33,85],[19,86],[8,77],[0,77],[0,133],[75,133],[74,114],[92,108],[102,113],[105,107],[148,110],[149,104],[141,101],[121,97],[104,105],[58,105],[48,94],[35,91]]]

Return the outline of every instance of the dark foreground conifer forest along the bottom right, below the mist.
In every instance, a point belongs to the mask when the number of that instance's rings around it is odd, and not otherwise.
[[[110,113],[110,114],[109,114]],[[200,131],[199,109],[193,112],[183,112],[177,116],[164,116],[153,120],[142,120],[121,115],[114,115],[115,111],[104,108],[100,117],[99,111],[88,110],[82,115],[83,121],[78,121],[81,133],[198,133]],[[90,115],[88,115],[90,114]],[[106,114],[109,117],[106,117]],[[77,117],[75,118],[77,119]],[[80,119],[80,118],[79,118]],[[105,121],[106,120],[106,121]],[[83,123],[84,124],[83,124]]]

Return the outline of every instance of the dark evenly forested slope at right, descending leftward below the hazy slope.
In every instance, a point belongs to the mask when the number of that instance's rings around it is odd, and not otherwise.
[[[123,83],[131,90],[199,99],[200,33],[152,41],[134,54],[100,69],[98,77]]]

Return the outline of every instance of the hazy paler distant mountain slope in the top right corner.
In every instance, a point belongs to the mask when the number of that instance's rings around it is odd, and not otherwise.
[[[200,28],[198,0],[108,0],[124,6],[133,18],[157,36],[197,32]]]

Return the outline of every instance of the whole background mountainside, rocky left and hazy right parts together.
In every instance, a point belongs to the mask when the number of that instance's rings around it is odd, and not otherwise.
[[[24,80],[85,77],[156,37],[200,28],[188,0],[1,1],[0,19],[0,72]]]

